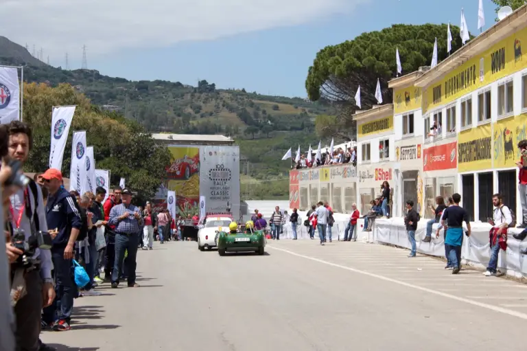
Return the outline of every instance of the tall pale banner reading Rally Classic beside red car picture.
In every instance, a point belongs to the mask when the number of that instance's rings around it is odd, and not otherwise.
[[[239,218],[239,146],[202,146],[198,192],[207,197],[206,212],[226,212]]]

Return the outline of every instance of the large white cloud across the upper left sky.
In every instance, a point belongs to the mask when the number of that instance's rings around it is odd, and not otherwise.
[[[45,56],[90,57],[299,25],[368,0],[0,0],[2,35]]]

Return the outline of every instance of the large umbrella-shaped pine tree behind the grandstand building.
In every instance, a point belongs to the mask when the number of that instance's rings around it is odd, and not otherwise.
[[[461,47],[459,27],[450,26],[452,49]],[[355,93],[360,85],[362,109],[369,109],[375,100],[377,78],[384,101],[392,100],[388,80],[395,78],[395,49],[399,49],[403,74],[430,65],[435,38],[447,37],[447,25],[393,25],[381,31],[360,34],[351,41],[321,49],[308,69],[305,80],[307,95],[312,101],[331,103],[338,109],[331,125],[317,126],[321,136],[333,135],[351,139],[346,131],[352,126],[355,113]],[[438,41],[438,60],[447,57],[447,41]]]

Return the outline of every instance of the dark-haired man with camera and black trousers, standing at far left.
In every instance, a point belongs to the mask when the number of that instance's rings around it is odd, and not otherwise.
[[[8,155],[5,161],[27,161],[32,147],[32,131],[27,124],[12,121],[8,128]],[[27,241],[38,231],[47,232],[44,200],[40,186],[27,179],[27,187],[19,189],[10,196],[9,229],[10,238],[14,235],[25,237]],[[51,279],[51,253],[48,249],[35,249],[29,265],[22,265],[21,249],[13,243],[5,244],[5,252],[11,263],[11,278],[21,277],[25,284],[25,295],[16,301],[16,347],[19,350],[39,350],[40,310],[49,306],[55,298]]]

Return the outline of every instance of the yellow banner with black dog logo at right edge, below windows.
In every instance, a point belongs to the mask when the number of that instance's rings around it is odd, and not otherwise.
[[[527,139],[527,115],[498,120],[493,124],[493,168],[511,168],[519,161],[518,143]]]

